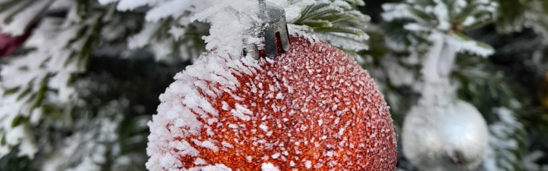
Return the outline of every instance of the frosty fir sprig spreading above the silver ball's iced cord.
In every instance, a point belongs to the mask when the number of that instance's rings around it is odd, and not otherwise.
[[[479,56],[494,53],[490,45],[477,42],[461,31],[473,30],[494,22],[498,2],[492,0],[408,0],[383,4],[385,21],[403,20],[404,28],[441,48],[443,44],[456,52]],[[434,54],[439,55],[439,54]]]

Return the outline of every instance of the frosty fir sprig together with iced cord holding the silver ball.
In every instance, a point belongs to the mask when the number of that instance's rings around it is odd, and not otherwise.
[[[383,4],[383,19],[403,22],[405,35],[410,44],[396,41],[389,47],[404,47],[411,55],[424,56],[421,73],[425,82],[438,82],[448,77],[453,69],[456,55],[468,52],[479,56],[494,53],[490,45],[477,42],[461,31],[470,30],[496,19],[498,3],[489,0],[477,1],[404,1]],[[402,48],[399,48],[402,49]]]

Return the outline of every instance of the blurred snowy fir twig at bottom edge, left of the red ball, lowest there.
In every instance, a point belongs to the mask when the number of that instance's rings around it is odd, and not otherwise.
[[[100,171],[107,162],[116,161],[119,153],[117,144],[118,127],[123,120],[129,101],[112,100],[102,107],[97,116],[79,119],[77,132],[64,139],[58,153],[50,156],[43,166],[44,171]],[[81,113],[85,115],[89,113]],[[116,164],[116,163],[115,163]]]

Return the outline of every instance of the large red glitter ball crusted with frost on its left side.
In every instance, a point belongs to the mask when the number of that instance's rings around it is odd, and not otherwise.
[[[160,96],[146,167],[160,170],[395,170],[383,95],[339,49],[290,38],[274,59],[215,50]]]

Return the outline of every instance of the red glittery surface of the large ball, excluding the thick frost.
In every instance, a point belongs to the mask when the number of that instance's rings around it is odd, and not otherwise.
[[[173,139],[199,152],[180,155],[178,169],[199,167],[197,158],[232,170],[261,170],[263,163],[279,170],[396,169],[395,130],[373,79],[327,43],[295,37],[291,42],[289,52],[262,60],[256,74],[234,73],[237,90],[216,97],[202,92],[219,111],[218,122],[209,124],[213,134],[203,128]],[[237,106],[253,112],[248,121],[231,113]],[[219,150],[193,144],[196,140]]]

